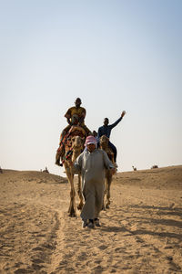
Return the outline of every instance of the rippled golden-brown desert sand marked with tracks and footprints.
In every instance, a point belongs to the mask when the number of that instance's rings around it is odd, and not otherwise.
[[[118,173],[102,227],[67,216],[66,178],[0,174],[0,273],[182,273],[182,165]]]

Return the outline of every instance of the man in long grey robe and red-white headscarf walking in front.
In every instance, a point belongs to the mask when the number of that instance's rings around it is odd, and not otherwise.
[[[81,153],[74,163],[76,172],[82,174],[85,205],[81,211],[82,227],[100,227],[99,213],[103,206],[105,190],[105,169],[115,173],[114,164],[103,150],[96,148],[96,138],[86,138],[87,150]]]

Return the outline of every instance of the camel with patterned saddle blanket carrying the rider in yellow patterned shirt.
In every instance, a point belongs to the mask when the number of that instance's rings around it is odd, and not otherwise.
[[[73,126],[72,132],[65,143],[65,157],[64,157],[64,167],[66,170],[66,177],[71,186],[70,191],[70,205],[68,209],[69,216],[76,216],[76,190],[74,185],[74,165],[76,158],[84,150],[84,142],[86,139],[86,132],[83,128],[79,126]],[[78,184],[77,184],[77,194],[79,196],[79,205],[77,209],[81,210],[84,202],[82,195],[82,185],[81,185],[81,174],[78,174]]]

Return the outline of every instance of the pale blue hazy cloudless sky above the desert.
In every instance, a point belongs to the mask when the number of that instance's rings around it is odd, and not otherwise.
[[[118,172],[182,164],[181,0],[0,0],[0,166],[55,165],[77,97]]]

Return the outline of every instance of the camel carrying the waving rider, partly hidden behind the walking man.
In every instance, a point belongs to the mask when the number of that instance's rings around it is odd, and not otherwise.
[[[114,165],[116,165],[114,161],[114,153],[112,152],[111,148],[109,148],[108,146],[109,138],[107,138],[106,135],[103,135],[100,138],[99,142],[100,142],[100,149],[104,150],[107,153],[108,158],[111,160],[111,162],[114,163]],[[106,203],[104,201],[103,209],[105,209],[105,206],[106,208],[109,208],[109,205],[110,205],[110,187],[112,183],[112,177],[113,177],[113,174],[111,173],[111,171],[106,169],[106,180],[105,180]]]

